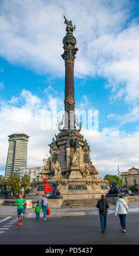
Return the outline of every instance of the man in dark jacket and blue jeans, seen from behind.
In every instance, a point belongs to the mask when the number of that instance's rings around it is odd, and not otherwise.
[[[100,214],[100,220],[101,220],[101,228],[102,232],[107,229],[107,213],[108,213],[108,208],[109,208],[109,203],[105,199],[105,195],[101,195],[101,199],[98,200],[96,207],[99,209],[99,214]]]

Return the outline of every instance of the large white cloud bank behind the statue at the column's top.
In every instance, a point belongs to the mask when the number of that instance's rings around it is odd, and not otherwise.
[[[36,72],[64,75],[63,14],[76,23],[78,77],[103,76],[112,99],[138,101],[138,23],[130,0],[2,1],[0,54]],[[122,86],[122,89],[121,89]]]

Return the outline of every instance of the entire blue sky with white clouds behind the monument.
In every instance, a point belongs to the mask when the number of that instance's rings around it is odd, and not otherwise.
[[[64,101],[63,14],[76,25],[75,100],[98,111],[83,127],[100,176],[139,168],[139,3],[128,0],[0,0],[0,174],[8,135],[27,133],[28,167],[42,166]]]

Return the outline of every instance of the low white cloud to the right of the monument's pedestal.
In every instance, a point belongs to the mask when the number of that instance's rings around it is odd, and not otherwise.
[[[116,129],[104,128],[102,132],[82,131],[90,143],[91,161],[101,174],[117,174],[130,167],[138,168],[139,131],[126,134]]]

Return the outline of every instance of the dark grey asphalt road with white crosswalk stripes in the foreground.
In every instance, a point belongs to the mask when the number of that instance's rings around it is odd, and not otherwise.
[[[4,219],[0,217],[0,245],[139,244],[139,212],[128,214],[126,233],[121,231],[119,217],[114,215],[108,215],[105,233],[101,231],[98,215],[51,217],[47,221],[24,217],[22,226],[18,226],[17,217]]]

